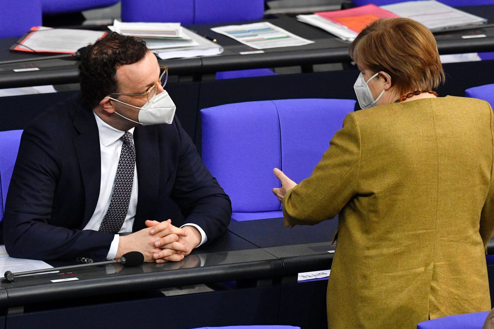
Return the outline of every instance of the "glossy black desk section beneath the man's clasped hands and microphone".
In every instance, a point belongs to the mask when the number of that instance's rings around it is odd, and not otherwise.
[[[58,264],[54,264],[58,266]],[[180,262],[112,264],[0,281],[0,308],[65,298],[143,291],[230,280],[279,276],[282,262],[265,250],[226,232],[209,247],[200,247]],[[77,278],[74,281],[50,280]],[[8,295],[8,297],[7,297]]]

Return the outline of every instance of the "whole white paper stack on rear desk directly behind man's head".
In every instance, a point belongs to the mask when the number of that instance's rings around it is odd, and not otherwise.
[[[140,37],[161,59],[218,55],[223,48],[185,29],[180,23],[122,23],[108,27],[114,32]]]

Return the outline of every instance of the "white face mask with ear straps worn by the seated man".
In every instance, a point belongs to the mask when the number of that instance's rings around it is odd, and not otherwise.
[[[117,111],[115,111],[115,113],[117,113],[118,115],[129,121],[139,123],[143,126],[147,126],[151,124],[159,124],[159,123],[170,124],[173,122],[173,116],[175,115],[176,106],[171,100],[171,97],[168,95],[166,90],[156,95],[156,97],[152,102],[146,102],[146,104],[144,104],[142,108],[124,103],[110,96],[106,96],[105,98],[109,98],[116,102],[139,109],[139,114],[138,114],[139,122],[131,120],[125,117],[124,115],[118,113]]]

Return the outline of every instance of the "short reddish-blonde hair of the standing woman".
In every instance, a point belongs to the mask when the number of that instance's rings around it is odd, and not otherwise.
[[[410,18],[381,18],[350,44],[350,57],[373,73],[384,71],[401,94],[437,88],[445,75],[436,39]]]

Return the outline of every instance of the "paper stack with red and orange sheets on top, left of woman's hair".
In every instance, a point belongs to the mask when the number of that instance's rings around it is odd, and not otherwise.
[[[343,40],[353,41],[369,24],[378,18],[398,17],[375,4],[351,9],[316,12],[312,15],[297,15],[301,22],[316,26]]]

